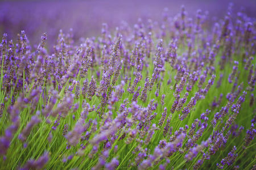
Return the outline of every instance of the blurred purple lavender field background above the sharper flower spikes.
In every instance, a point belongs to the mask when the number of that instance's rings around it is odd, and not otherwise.
[[[234,11],[241,8],[248,16],[255,18],[256,1],[232,1]],[[124,20],[134,24],[138,18],[160,20],[165,7],[171,16],[185,6],[188,15],[195,16],[196,10],[208,11],[210,19],[223,17],[230,1],[191,1],[191,0],[158,0],[158,1],[13,1],[0,2],[0,33],[6,32],[9,39],[16,39],[16,34],[24,30],[28,39],[40,42],[42,32],[47,32],[48,41],[55,41],[60,29],[67,32],[73,28],[75,39],[97,36],[102,23],[115,28]]]

